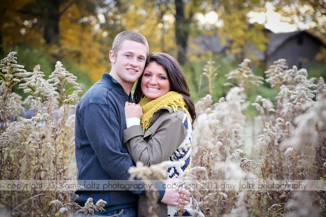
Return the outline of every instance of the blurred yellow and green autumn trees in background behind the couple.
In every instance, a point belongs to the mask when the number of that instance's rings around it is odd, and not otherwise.
[[[47,76],[60,60],[78,77],[82,95],[103,72],[110,72],[108,52],[114,37],[123,30],[137,30],[147,38],[150,52],[167,52],[178,59],[194,101],[209,93],[202,73],[207,61],[214,61],[217,76],[212,100],[217,102],[230,88],[224,86],[225,75],[244,58],[251,59],[254,73],[264,77],[266,66],[246,48],[266,50],[268,7],[282,22],[309,30],[325,43],[323,0],[13,0],[0,5],[0,56],[17,51],[19,64],[27,71],[39,64]],[[259,18],[261,14],[265,19]],[[203,36],[217,36],[227,49],[202,49],[198,41]],[[317,58],[305,68],[310,77],[325,78],[325,49]],[[249,90],[250,101],[257,95],[273,100],[276,91],[268,85]],[[254,110],[247,114],[254,116]]]

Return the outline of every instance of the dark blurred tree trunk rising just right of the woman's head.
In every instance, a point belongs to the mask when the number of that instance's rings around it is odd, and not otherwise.
[[[184,3],[182,0],[175,0],[175,37],[177,40],[178,47],[178,61],[183,65],[187,61],[186,49],[188,41],[188,31],[189,28],[186,25],[186,20],[184,19]]]

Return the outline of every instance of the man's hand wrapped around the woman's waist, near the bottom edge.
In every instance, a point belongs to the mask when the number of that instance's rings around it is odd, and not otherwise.
[[[178,179],[169,178],[164,181],[166,190],[161,202],[172,206],[178,206],[180,204],[188,205],[191,194],[188,190],[176,188],[176,184],[173,183],[176,180]]]

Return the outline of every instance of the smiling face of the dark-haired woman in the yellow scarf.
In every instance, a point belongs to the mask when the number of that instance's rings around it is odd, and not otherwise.
[[[148,102],[170,91],[170,81],[165,69],[156,62],[151,62],[144,70],[141,87]]]

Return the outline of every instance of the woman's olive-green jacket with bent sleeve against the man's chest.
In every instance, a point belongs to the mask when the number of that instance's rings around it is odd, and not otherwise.
[[[142,162],[146,166],[169,160],[187,135],[182,123],[186,115],[181,108],[173,112],[173,108],[161,108],[154,112],[145,133],[140,125],[123,131],[123,143],[127,146],[134,162]],[[158,216],[167,216],[167,205],[158,202]],[[145,196],[139,196],[138,216],[148,215],[148,202]]]

